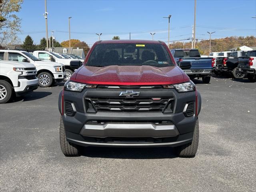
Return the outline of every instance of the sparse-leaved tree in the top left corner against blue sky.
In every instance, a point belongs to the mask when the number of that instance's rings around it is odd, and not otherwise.
[[[21,19],[19,12],[23,0],[0,0],[0,45],[13,44],[18,41]]]

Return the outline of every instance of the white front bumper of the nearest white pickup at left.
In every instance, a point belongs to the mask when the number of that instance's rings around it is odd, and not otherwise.
[[[18,94],[27,93],[33,91],[37,88],[38,78],[27,80],[27,79],[18,79],[18,87],[14,87],[14,91]]]

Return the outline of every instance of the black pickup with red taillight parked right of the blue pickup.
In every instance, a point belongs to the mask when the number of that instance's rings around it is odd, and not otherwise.
[[[245,74],[238,70],[238,58],[246,56],[245,51],[234,51],[229,57],[216,58],[216,73],[232,74],[234,78],[244,78]]]

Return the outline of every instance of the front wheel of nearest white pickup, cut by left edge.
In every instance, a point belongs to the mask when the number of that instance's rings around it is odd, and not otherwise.
[[[6,103],[12,98],[12,85],[5,80],[0,80],[0,103]]]

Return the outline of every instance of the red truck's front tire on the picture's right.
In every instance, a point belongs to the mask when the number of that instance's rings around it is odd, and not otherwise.
[[[194,157],[197,152],[198,141],[199,141],[199,124],[197,120],[192,142],[182,146],[175,147],[174,150],[179,157],[184,157],[184,158]]]

